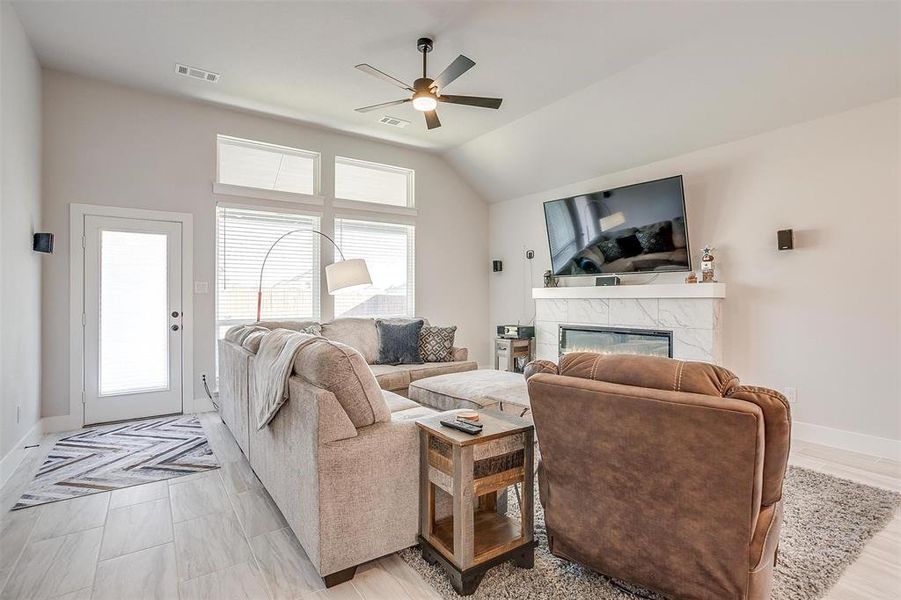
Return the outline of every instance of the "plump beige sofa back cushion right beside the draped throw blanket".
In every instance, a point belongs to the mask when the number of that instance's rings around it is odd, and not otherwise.
[[[334,394],[354,427],[391,420],[369,365],[350,346],[325,338],[311,342],[297,355],[294,373]]]

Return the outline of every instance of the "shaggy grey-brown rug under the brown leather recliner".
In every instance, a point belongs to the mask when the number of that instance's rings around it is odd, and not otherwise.
[[[537,498],[538,492],[536,490]],[[773,600],[822,598],[867,541],[885,527],[901,505],[901,494],[823,473],[789,467],[783,488],[785,519],[779,544]],[[510,494],[510,513],[518,514]],[[647,590],[614,581],[553,556],[547,548],[544,511],[535,506],[535,567],[499,565],[485,575],[473,600],[633,600],[660,598]],[[400,553],[446,599],[461,598],[447,575],[430,566],[418,548]]]

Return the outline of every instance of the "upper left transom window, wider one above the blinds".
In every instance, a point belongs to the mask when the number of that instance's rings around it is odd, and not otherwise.
[[[219,183],[263,190],[319,193],[319,153],[220,135]]]

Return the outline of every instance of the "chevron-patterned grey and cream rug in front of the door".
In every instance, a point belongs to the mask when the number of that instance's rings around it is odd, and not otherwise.
[[[12,510],[218,468],[194,416],[92,427],[53,446]]]

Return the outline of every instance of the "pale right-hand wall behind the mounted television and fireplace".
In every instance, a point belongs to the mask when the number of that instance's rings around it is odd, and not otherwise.
[[[693,260],[715,246],[728,284],[725,365],[796,387],[796,422],[901,439],[899,111],[896,98],[492,205],[504,271],[490,278],[491,323],[533,317],[529,288],[550,265],[544,200],[681,173]],[[776,250],[783,228],[794,251]]]

